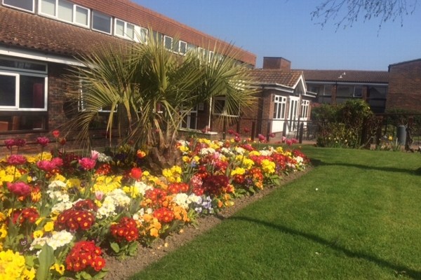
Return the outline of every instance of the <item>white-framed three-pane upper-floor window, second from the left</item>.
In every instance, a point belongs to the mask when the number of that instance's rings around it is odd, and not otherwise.
[[[89,9],[66,0],[40,0],[39,13],[76,25],[89,26]]]

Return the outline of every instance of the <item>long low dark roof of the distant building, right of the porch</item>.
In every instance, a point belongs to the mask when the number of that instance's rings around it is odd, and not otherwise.
[[[387,71],[302,70],[307,82],[389,83]]]

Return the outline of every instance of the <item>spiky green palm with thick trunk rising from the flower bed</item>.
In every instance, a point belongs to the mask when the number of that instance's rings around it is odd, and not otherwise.
[[[227,52],[234,55],[232,48]],[[81,61],[85,67],[75,73],[83,81],[85,92],[79,102],[84,111],[72,120],[78,139],[88,140],[89,124],[98,111],[110,109],[107,132],[146,148],[149,164],[156,168],[174,165],[179,158],[174,144],[186,108],[225,96],[225,111],[234,115],[239,106],[250,106],[254,100],[249,69],[228,56],[196,51],[176,55],[152,35],[147,44],[109,48]]]

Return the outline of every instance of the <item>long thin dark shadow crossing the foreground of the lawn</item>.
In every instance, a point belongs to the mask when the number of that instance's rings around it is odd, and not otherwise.
[[[258,223],[260,225],[265,225],[269,228],[275,228],[276,230],[279,230],[280,232],[286,233],[288,235],[297,235],[300,237],[305,237],[309,240],[312,240],[314,242],[317,242],[319,244],[322,244],[324,246],[328,246],[330,248],[333,248],[336,251],[340,251],[342,253],[345,253],[349,258],[361,258],[364,260],[368,260],[369,262],[373,262],[376,265],[380,267],[385,267],[388,269],[393,269],[396,274],[403,274],[406,275],[412,279],[421,279],[421,271],[416,271],[414,269],[410,269],[408,267],[405,267],[403,265],[396,265],[394,263],[388,262],[387,260],[382,260],[381,258],[377,258],[374,255],[368,255],[367,253],[361,253],[361,252],[353,252],[350,251],[347,248],[344,248],[342,246],[339,246],[335,243],[335,241],[329,241],[326,239],[323,239],[317,235],[312,235],[307,232],[300,232],[299,230],[293,230],[291,228],[287,228],[283,225],[275,225],[273,223],[267,223],[265,221],[260,221],[253,218],[248,217],[242,217],[242,216],[232,216],[228,218],[229,220],[239,220],[239,221],[248,221],[252,223]]]

